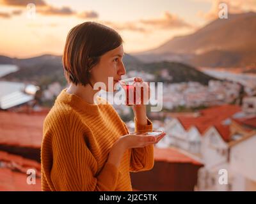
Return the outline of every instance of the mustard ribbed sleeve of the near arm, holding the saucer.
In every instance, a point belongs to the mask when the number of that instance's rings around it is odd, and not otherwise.
[[[118,168],[105,163],[96,175],[97,161],[86,146],[77,121],[72,114],[64,117],[62,114],[58,122],[51,121],[51,128],[45,133],[42,161],[52,154],[52,162],[42,163],[48,185],[55,191],[113,191]]]

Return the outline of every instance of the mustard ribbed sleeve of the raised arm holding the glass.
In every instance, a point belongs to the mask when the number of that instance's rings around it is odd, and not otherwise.
[[[151,131],[153,129],[152,122],[147,118],[147,125],[138,124],[134,117],[135,131]],[[148,145],[143,148],[134,148],[131,152],[130,171],[146,171],[154,167],[154,145]]]

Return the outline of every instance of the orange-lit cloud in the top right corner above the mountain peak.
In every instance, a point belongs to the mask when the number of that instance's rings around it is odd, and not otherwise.
[[[199,1],[199,0],[197,0]],[[200,0],[207,1],[208,0]],[[256,11],[256,3],[255,0],[213,0],[211,1],[211,10],[207,13],[202,11],[198,11],[198,17],[202,17],[205,20],[214,20],[218,18],[218,13],[220,11],[219,4],[226,3],[228,6],[228,13],[244,13],[246,11]]]

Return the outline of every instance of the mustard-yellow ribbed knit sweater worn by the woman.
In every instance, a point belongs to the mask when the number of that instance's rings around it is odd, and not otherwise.
[[[130,171],[154,166],[154,146],[126,150],[120,166],[106,163],[113,143],[129,133],[112,105],[86,103],[61,91],[44,120],[43,191],[132,191]],[[152,122],[135,131],[152,129]]]

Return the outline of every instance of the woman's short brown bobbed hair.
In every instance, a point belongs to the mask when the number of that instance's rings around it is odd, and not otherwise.
[[[91,84],[89,71],[100,56],[124,41],[114,29],[97,22],[84,22],[73,27],[67,36],[62,62],[67,82]]]

